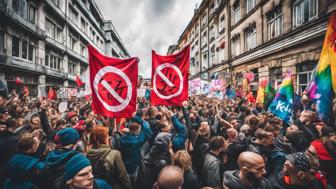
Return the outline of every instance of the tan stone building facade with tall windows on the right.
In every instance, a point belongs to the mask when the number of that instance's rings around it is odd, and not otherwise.
[[[226,79],[241,86],[269,80],[278,87],[292,73],[301,93],[316,66],[334,0],[203,0],[174,53],[190,44],[190,79]]]

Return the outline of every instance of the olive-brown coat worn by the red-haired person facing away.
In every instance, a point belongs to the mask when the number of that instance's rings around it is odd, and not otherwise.
[[[108,145],[100,145],[98,148],[92,148],[87,153],[88,159],[91,161],[95,178],[104,179],[112,188],[131,189],[131,181],[127,175],[127,171],[122,161],[119,151],[112,150]],[[104,167],[104,174],[97,172],[101,166]],[[106,172],[105,172],[106,171]]]

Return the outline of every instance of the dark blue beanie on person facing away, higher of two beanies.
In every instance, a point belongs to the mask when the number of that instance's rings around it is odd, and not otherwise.
[[[76,144],[79,141],[79,134],[76,129],[67,127],[56,133],[54,141],[56,144],[61,144],[62,146]]]

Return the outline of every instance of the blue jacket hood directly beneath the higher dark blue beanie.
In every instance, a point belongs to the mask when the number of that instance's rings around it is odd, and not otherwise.
[[[65,164],[66,159],[70,159],[70,157],[77,153],[79,152],[70,149],[56,149],[49,152],[45,159],[45,163],[48,166],[59,166],[61,164]]]

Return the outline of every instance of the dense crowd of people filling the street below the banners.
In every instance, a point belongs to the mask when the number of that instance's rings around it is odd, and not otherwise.
[[[0,91],[0,188],[331,189],[334,125],[314,108],[288,125],[244,98],[193,96],[180,107],[139,98],[131,119],[86,99]]]

